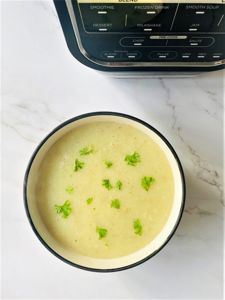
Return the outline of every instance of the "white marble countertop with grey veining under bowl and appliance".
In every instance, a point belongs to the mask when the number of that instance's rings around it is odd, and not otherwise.
[[[1,2],[1,298],[223,298],[223,71],[189,79],[113,79],[72,57],[52,1]],[[115,111],[157,128],[186,178],[181,223],[135,268],[93,273],[38,241],[23,206],[29,158],[44,136],[82,113]]]

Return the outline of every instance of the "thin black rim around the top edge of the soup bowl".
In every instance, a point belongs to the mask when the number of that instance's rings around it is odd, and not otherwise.
[[[138,262],[135,262],[131,265],[127,265],[124,267],[120,267],[120,268],[113,268],[113,269],[96,269],[96,268],[88,268],[88,267],[84,267],[82,265],[77,265],[73,262],[70,262],[69,260],[65,259],[64,257],[60,256],[58,253],[56,253],[52,248],[49,247],[49,245],[43,240],[43,238],[41,237],[41,235],[38,233],[37,229],[35,228],[35,225],[32,221],[30,212],[29,212],[29,208],[28,208],[28,203],[27,203],[27,180],[28,180],[28,176],[29,176],[29,172],[30,172],[30,168],[32,166],[32,163],[35,159],[35,156],[37,155],[38,151],[41,149],[41,147],[43,146],[43,144],[46,142],[46,140],[49,139],[49,137],[51,137],[56,131],[58,131],[59,129],[61,129],[62,127],[68,125],[71,122],[74,122],[76,120],[79,119],[83,119],[83,118],[87,118],[87,117],[91,117],[91,116],[118,116],[118,117],[123,117],[123,118],[127,118],[127,119],[131,119],[133,121],[136,121],[138,123],[141,123],[142,125],[146,126],[147,128],[151,129],[152,131],[154,131],[159,137],[161,137],[161,139],[167,144],[167,146],[169,147],[170,151],[172,152],[177,165],[179,167],[179,171],[180,171],[180,176],[181,176],[181,180],[182,180],[182,204],[181,204],[181,209],[179,212],[179,216],[176,220],[176,223],[173,227],[173,230],[170,232],[170,235],[167,237],[167,239],[164,241],[164,243],[157,249],[155,250],[153,253],[151,253],[149,256],[145,257],[144,259],[141,259]],[[35,232],[35,235],[38,237],[39,241],[41,241],[41,243],[52,253],[54,254],[56,257],[58,257],[59,259],[61,259],[62,261],[66,262],[69,265],[72,265],[76,268],[80,268],[82,270],[86,270],[86,271],[94,271],[94,272],[115,272],[115,271],[122,271],[122,270],[126,270],[129,268],[133,268],[137,265],[140,265],[143,262],[146,262],[148,259],[150,259],[151,257],[153,257],[155,254],[157,254],[167,243],[168,241],[172,238],[174,232],[176,231],[181,217],[182,217],[182,213],[184,210],[184,202],[185,202],[185,180],[184,180],[184,172],[181,166],[181,163],[179,161],[179,158],[175,152],[175,150],[173,149],[173,147],[170,145],[170,143],[167,141],[167,139],[159,132],[157,131],[154,127],[152,127],[151,125],[147,124],[146,122],[137,119],[135,117],[126,115],[126,114],[122,114],[122,113],[113,113],[113,112],[94,112],[94,113],[86,113],[77,117],[74,117],[72,119],[69,119],[63,123],[61,123],[60,125],[58,125],[57,127],[55,127],[51,132],[49,132],[49,134],[46,135],[46,137],[44,137],[44,139],[41,141],[41,143],[37,146],[37,148],[35,149],[34,153],[32,154],[32,157],[28,163],[27,169],[26,169],[26,173],[25,173],[25,178],[24,178],[24,184],[23,184],[23,199],[24,199],[24,206],[25,206],[25,211],[29,220],[29,223],[33,229],[33,231]]]

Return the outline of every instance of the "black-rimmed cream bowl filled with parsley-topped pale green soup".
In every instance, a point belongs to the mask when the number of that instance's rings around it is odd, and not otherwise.
[[[87,113],[52,130],[33,153],[24,205],[41,243],[89,271],[120,271],[158,253],[184,208],[185,182],[170,143],[121,113]]]

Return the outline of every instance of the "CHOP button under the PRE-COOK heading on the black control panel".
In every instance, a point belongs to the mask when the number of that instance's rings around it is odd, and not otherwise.
[[[124,47],[154,47],[154,46],[166,46],[166,39],[150,39],[148,37],[132,37],[122,38],[120,40],[121,46]]]

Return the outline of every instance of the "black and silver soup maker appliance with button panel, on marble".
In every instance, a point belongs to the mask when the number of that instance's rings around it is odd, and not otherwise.
[[[225,63],[225,0],[54,0],[72,55],[111,77],[189,77]]]

